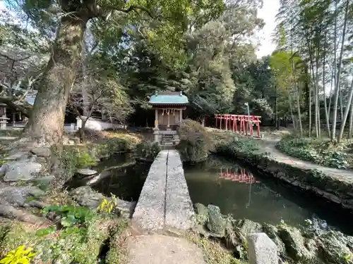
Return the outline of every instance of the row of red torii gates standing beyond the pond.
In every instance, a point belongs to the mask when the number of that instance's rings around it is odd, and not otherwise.
[[[231,114],[222,114],[215,115],[216,118],[216,127],[218,120],[220,120],[220,130],[222,130],[222,120],[225,120],[225,130],[232,130],[233,132],[239,132],[240,134],[253,135],[253,126],[257,127],[257,137],[261,137],[260,134],[260,123],[261,116],[258,115],[231,115]],[[239,123],[238,123],[239,121]],[[239,130],[238,130],[239,124]]]

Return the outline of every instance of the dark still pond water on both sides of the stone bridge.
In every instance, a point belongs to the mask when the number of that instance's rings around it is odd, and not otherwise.
[[[150,165],[133,164],[132,156],[114,156],[103,161],[96,170],[105,170],[102,180],[91,184],[93,189],[126,201],[137,201]],[[256,222],[304,225],[310,219],[317,227],[333,227],[353,234],[352,215],[337,206],[317,201],[313,196],[282,185],[249,168],[225,158],[210,157],[198,165],[184,165],[186,182],[193,203],[214,204],[223,214]],[[85,181],[76,181],[77,187]]]

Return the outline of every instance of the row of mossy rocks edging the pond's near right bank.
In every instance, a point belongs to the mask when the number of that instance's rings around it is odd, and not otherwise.
[[[265,232],[277,245],[281,258],[295,264],[349,264],[353,263],[353,237],[340,232],[323,231],[320,234],[310,230],[299,230],[286,224],[278,227],[259,224],[251,220],[234,220],[230,215],[220,213],[220,208],[200,203],[195,205],[199,225],[208,227],[210,232],[201,232],[204,237],[213,237],[234,253],[238,258],[244,257],[247,250],[248,234]],[[200,215],[198,215],[200,213]],[[208,215],[208,218],[206,218]],[[197,229],[202,230],[200,228]]]

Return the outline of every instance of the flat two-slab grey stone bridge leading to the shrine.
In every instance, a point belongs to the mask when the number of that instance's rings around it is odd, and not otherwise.
[[[143,185],[133,222],[148,232],[188,230],[194,215],[179,152],[160,151]]]

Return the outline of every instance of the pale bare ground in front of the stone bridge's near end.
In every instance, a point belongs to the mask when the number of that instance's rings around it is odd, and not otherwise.
[[[128,264],[205,264],[196,244],[179,237],[152,234],[128,238]]]

